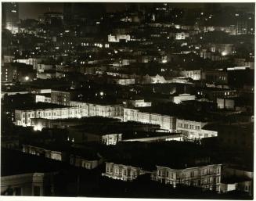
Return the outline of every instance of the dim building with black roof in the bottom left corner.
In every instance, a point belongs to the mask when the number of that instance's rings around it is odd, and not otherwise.
[[[2,148],[1,153],[1,195],[54,195],[52,178],[63,164],[11,149]]]

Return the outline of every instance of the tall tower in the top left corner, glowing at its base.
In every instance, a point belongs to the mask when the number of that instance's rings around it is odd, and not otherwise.
[[[2,3],[2,27],[13,34],[19,32],[19,4],[17,2]]]

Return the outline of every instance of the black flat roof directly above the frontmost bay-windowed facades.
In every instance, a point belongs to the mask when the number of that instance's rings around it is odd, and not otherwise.
[[[193,142],[121,142],[114,146],[108,162],[156,170],[156,166],[185,169],[218,164],[211,153]]]

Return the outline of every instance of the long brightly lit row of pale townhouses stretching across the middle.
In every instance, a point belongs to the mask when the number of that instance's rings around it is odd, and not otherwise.
[[[124,108],[121,104],[99,105],[88,102],[70,102],[71,106],[57,106],[50,103],[38,103],[24,109],[15,110],[15,124],[18,126],[32,126],[31,119],[67,119],[81,117],[115,117],[124,121],[137,121],[146,124],[158,124],[160,129],[170,132],[181,131],[186,138],[217,137],[217,131],[202,129],[208,122],[182,120],[177,117],[160,113],[146,113],[139,109]],[[41,129],[37,129],[41,130]]]

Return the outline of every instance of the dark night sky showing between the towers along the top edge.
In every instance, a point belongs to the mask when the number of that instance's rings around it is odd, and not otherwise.
[[[105,3],[107,12],[121,11],[125,8],[125,3]],[[200,8],[202,3],[173,3],[180,8]],[[224,3],[222,5],[232,5],[235,7],[247,7],[254,10],[254,6],[248,3]],[[20,2],[20,18],[38,18],[38,15],[51,11],[63,12],[63,3],[58,2]]]

